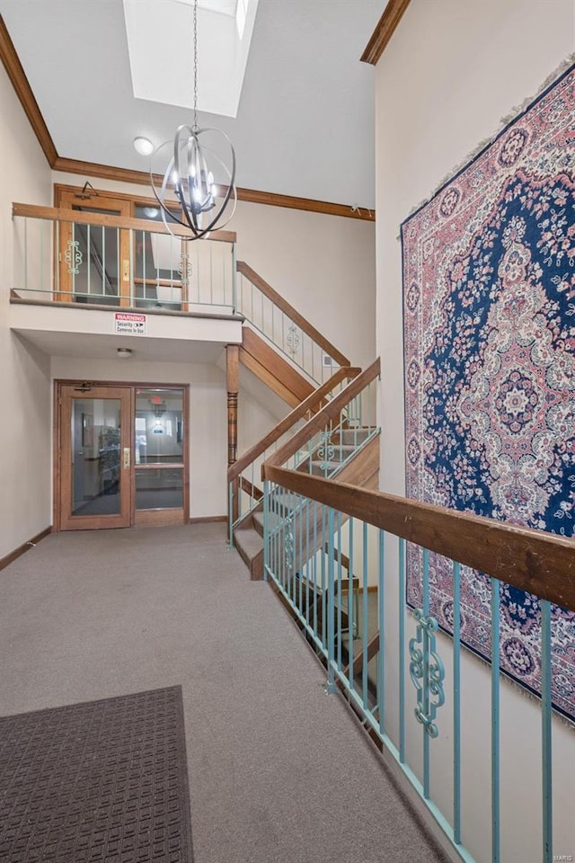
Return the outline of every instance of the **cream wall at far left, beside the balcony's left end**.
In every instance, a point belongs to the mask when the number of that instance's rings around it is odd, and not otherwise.
[[[0,558],[51,524],[49,361],[8,328],[13,201],[49,205],[49,165],[0,65]]]

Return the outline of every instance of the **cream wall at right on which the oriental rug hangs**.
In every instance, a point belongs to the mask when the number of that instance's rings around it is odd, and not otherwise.
[[[536,93],[573,49],[571,0],[411,0],[377,65],[376,343],[382,357],[385,491],[404,493],[400,224],[455,165],[491,136],[501,117]],[[397,599],[392,589],[386,603],[396,609]],[[394,645],[393,615],[388,623],[389,642]],[[442,638],[439,648],[447,658],[449,643]],[[447,680],[449,673],[447,667]],[[488,861],[490,678],[469,654],[464,656],[463,673],[464,841],[476,859]],[[411,682],[406,685],[412,689]],[[502,859],[535,861],[541,859],[539,710],[506,682],[502,708]],[[389,720],[395,734],[394,711]],[[439,725],[440,737],[431,744],[432,793],[447,805],[452,744],[448,704]],[[553,734],[553,852],[575,854],[575,734],[559,722],[554,723]],[[419,728],[417,736],[419,741]]]

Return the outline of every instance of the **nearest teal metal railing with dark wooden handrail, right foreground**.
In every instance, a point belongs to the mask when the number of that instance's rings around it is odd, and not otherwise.
[[[521,823],[538,824],[540,850],[533,848],[530,859],[569,859],[572,845],[567,855],[562,856],[564,846],[553,855],[553,802],[562,799],[562,790],[555,788],[553,796],[553,758],[561,756],[553,753],[552,742],[553,734],[564,728],[552,716],[557,671],[551,603],[575,611],[573,541],[284,467],[264,464],[262,473],[264,578],[277,585],[323,658],[326,689],[345,694],[397,762],[457,858],[467,863],[519,859],[513,850],[519,845],[513,834],[517,820],[506,819],[505,813],[517,815],[520,799]],[[346,587],[342,561],[349,578],[358,579],[357,604],[357,593],[349,583]],[[406,601],[408,565],[419,573],[416,608]],[[438,565],[448,567],[452,583],[450,636],[438,630],[432,613]],[[462,651],[463,566],[489,576],[489,670]],[[538,752],[541,784],[528,795],[517,781],[509,781],[518,762],[505,764],[507,781],[502,781],[503,762],[510,752],[517,753],[521,710],[535,709],[521,697],[514,707],[518,714],[510,716],[502,706],[505,695],[509,709],[500,673],[501,596],[509,585],[535,594],[541,608],[540,730],[528,742],[529,755]],[[486,675],[488,687],[483,685]],[[491,690],[487,704],[480,690],[473,698],[473,686]],[[491,735],[482,734],[484,728],[491,728]],[[521,734],[526,734],[522,727]],[[570,744],[562,757],[572,760],[572,737]],[[484,749],[473,768],[469,747]],[[490,804],[483,803],[482,787],[491,789]],[[568,791],[563,788],[564,795]],[[565,825],[569,818],[563,814],[563,836],[572,828],[571,821]]]

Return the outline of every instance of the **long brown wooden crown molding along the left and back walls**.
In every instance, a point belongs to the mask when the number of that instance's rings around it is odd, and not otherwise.
[[[405,2],[405,0],[403,0]],[[409,2],[409,0],[407,0]],[[390,4],[394,0],[390,0]],[[48,126],[42,117],[38,102],[31,91],[20,58],[13,46],[13,41],[0,15],[0,59],[4,64],[6,73],[13,85],[14,92],[22,103],[26,117],[30,121],[31,128],[38,138],[40,147],[46,160],[54,171],[63,173],[78,173],[97,177],[101,180],[112,180],[117,182],[132,182],[138,185],[149,185],[150,174],[147,171],[135,171],[131,168],[119,168],[114,165],[100,165],[96,162],[82,162],[79,159],[68,159],[58,156]],[[162,177],[157,178],[162,182]],[[248,201],[253,204],[266,204],[270,207],[286,207],[288,209],[301,209],[312,213],[323,213],[328,216],[341,216],[344,218],[358,218],[364,221],[375,221],[376,214],[373,210],[365,207],[350,207],[347,204],[336,204],[327,200],[313,200],[311,198],[296,198],[292,195],[274,194],[270,191],[256,191],[254,189],[238,188],[238,200]]]

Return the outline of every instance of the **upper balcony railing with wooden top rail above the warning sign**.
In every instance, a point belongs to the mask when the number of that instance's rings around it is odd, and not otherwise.
[[[13,204],[17,297],[210,315],[236,310],[235,235],[201,243],[162,222]]]

